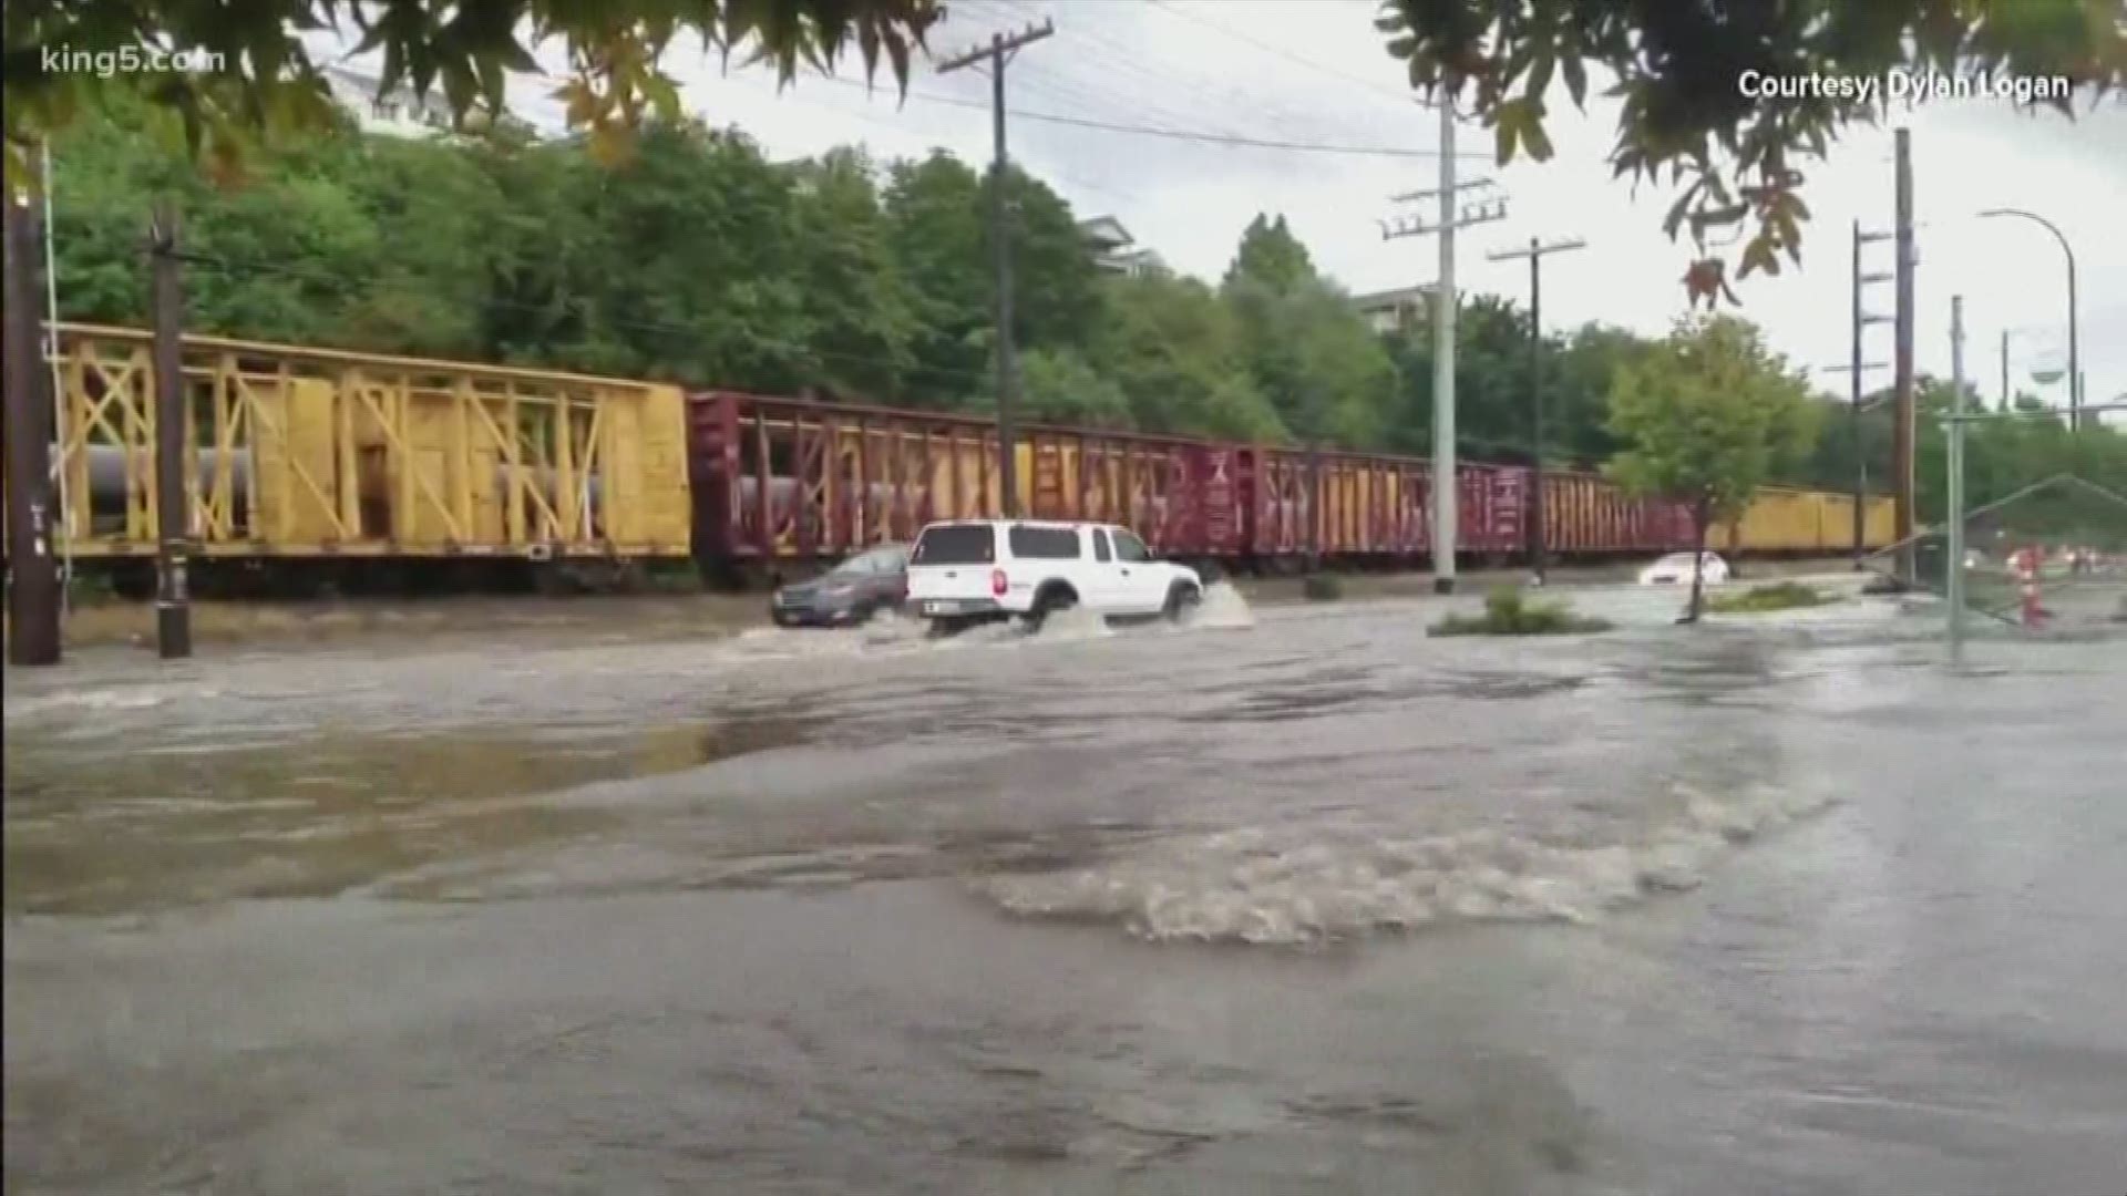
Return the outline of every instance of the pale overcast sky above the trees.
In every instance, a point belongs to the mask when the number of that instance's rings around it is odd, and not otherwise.
[[[1038,119],[1070,117],[1259,140],[1436,151],[1438,117],[1408,100],[1402,66],[1383,51],[1370,0],[953,0],[936,30],[947,57],[991,32],[1055,21],[1055,36],[1008,68],[1012,157],[1072,200],[1081,217],[1115,215],[1172,266],[1217,279],[1249,219],[1283,213],[1314,262],[1353,292],[1431,283],[1431,238],[1385,243],[1378,219],[1397,192],[1431,187],[1431,155],[1253,149],[1157,138]],[[715,60],[676,53],[689,109],[717,126],[738,126],[774,157],[864,143],[881,157],[944,147],[972,162],[989,157],[989,79],[976,70],[938,74],[919,66],[910,98],[891,87],[802,74],[776,94],[766,70],[723,74]],[[857,77],[855,64],[844,64]],[[521,100],[519,100],[521,98]],[[553,119],[538,87],[513,89],[513,104]],[[2023,206],[2053,219],[2076,249],[2082,289],[2082,368],[2093,402],[2127,392],[2127,104],[2067,121],[2021,115],[2008,100],[1933,102],[1899,113],[1914,145],[1921,221],[1919,368],[1948,375],[1950,296],[1965,296],[1965,368],[1989,398],[1999,389],[1999,334],[2014,330],[2012,385],[2065,404],[2065,381],[2040,387],[2033,368],[2061,368],[2067,349],[2065,262],[2044,228],[1974,217],[1987,206]],[[1491,164],[1491,138],[1463,126],[1466,177],[1493,177],[1510,196],[1508,217],[1459,238],[1463,289],[1525,302],[1527,264],[1485,253],[1529,236],[1580,236],[1587,249],[1544,266],[1544,323],[1602,319],[1659,334],[1685,311],[1680,275],[1689,243],[1661,232],[1668,187],[1612,181],[1604,157],[1617,109],[1553,100],[1548,164]],[[1848,360],[1850,221],[1889,228],[1893,217],[1891,126],[1859,128],[1810,170],[1804,192],[1804,268],[1753,277],[1740,296],[1774,347],[1795,364]],[[1891,268],[1878,245],[1872,268]],[[1891,311],[1891,287],[1874,287]],[[1868,360],[1891,360],[1891,328],[1868,338]],[[1870,375],[1887,385],[1889,370]],[[1844,392],[1844,375],[1823,383]],[[2118,417],[2114,417],[2118,419]]]

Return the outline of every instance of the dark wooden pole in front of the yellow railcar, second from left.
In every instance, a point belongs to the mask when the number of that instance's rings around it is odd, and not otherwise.
[[[155,204],[149,226],[155,289],[155,645],[164,660],[191,655],[191,596],[185,585],[191,502],[185,492],[185,298],[177,279],[177,209]]]

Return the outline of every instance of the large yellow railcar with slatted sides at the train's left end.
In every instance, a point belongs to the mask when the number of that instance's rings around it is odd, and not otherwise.
[[[187,336],[185,489],[200,555],[689,551],[668,385]],[[62,326],[62,530],[155,551],[151,336]]]

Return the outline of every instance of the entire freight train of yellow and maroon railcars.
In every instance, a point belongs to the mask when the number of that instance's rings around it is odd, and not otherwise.
[[[155,553],[151,336],[62,326],[55,360],[62,553],[138,579]],[[217,579],[485,585],[551,566],[691,562],[742,579],[1002,511],[991,419],[262,345],[183,343],[189,553]],[[11,430],[13,434],[13,430]],[[1015,436],[1032,517],[1136,528],[1157,551],[1238,570],[1308,562],[1423,568],[1431,464],[1385,453],[1029,426]],[[1523,558],[1525,466],[1457,468],[1457,547]],[[1689,515],[1595,472],[1544,475],[1555,560],[1685,547]],[[1846,494],[1765,489],[1710,547],[1853,549]],[[1863,509],[1865,547],[1891,502]]]

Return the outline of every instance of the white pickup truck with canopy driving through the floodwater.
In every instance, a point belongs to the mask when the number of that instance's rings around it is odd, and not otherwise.
[[[1112,524],[929,524],[908,555],[908,609],[940,632],[1015,615],[1038,628],[1072,607],[1178,619],[1202,600],[1193,568],[1153,560],[1136,532]]]

